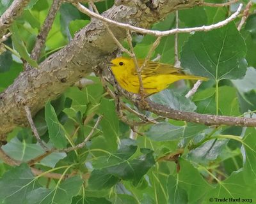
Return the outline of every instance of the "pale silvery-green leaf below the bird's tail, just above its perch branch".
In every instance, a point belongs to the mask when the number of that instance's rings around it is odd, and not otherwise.
[[[161,105],[169,106],[172,109],[194,112],[196,110],[196,105],[185,96],[182,96],[179,92],[173,92],[169,89],[165,89],[157,94],[150,96],[150,99]]]

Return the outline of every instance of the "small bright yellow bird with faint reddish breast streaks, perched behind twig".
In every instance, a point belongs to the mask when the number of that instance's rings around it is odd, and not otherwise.
[[[138,65],[141,67],[144,60],[138,59]],[[134,61],[127,57],[117,57],[111,61],[111,70],[120,86],[126,91],[138,94],[140,91],[140,82],[134,65]],[[179,73],[181,69],[174,68],[171,64],[160,62],[148,62],[141,71],[144,92],[154,94],[166,89],[168,85],[182,79],[208,80],[205,77],[196,77],[193,75],[184,75]]]

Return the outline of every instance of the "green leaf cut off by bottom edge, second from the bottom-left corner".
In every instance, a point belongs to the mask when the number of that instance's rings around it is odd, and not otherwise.
[[[72,197],[79,193],[83,184],[80,177],[71,177],[57,184],[54,189],[38,188],[28,193],[27,202],[31,204],[70,204]]]

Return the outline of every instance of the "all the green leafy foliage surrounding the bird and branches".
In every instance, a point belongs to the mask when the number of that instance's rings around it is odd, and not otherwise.
[[[9,5],[10,1],[0,1],[0,14]],[[18,57],[36,66],[29,52],[50,5],[48,0],[31,1],[12,25],[12,41],[5,42],[11,51],[0,55],[0,91],[22,71]],[[96,4],[100,13],[112,5],[110,0]],[[228,7],[182,10],[179,27],[209,25],[225,19],[229,12]],[[231,22],[214,31],[179,34],[182,67],[210,80],[192,99],[184,97],[191,82],[179,88],[172,85],[150,99],[186,112],[255,117],[255,19],[255,14],[250,15],[241,32],[236,29],[239,22]],[[174,20],[171,13],[152,29],[172,29]],[[63,4],[40,60],[66,45],[89,22],[76,8]],[[145,57],[156,38],[134,34],[133,39],[136,54]],[[152,59],[161,54],[161,62],[173,63],[173,40],[173,36],[164,37]],[[30,129],[15,129],[3,150],[23,164],[0,164],[1,203],[209,203],[216,198],[256,202],[255,128],[207,127],[164,119],[136,127],[143,136],[132,140],[131,128],[118,119],[115,101],[99,78],[88,78],[93,84],[70,87],[55,101],[48,101],[34,121],[47,147],[63,149],[83,142],[102,115],[91,140],[82,149],[47,155],[33,165],[44,172],[35,176],[25,163],[44,154],[44,149]],[[125,115],[138,120],[129,112]],[[52,173],[58,178],[48,179]]]

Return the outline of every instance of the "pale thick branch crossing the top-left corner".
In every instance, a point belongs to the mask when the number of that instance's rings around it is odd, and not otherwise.
[[[29,0],[14,0],[12,5],[4,11],[0,17],[0,38],[6,33],[8,27],[12,25],[13,20],[19,17]]]

